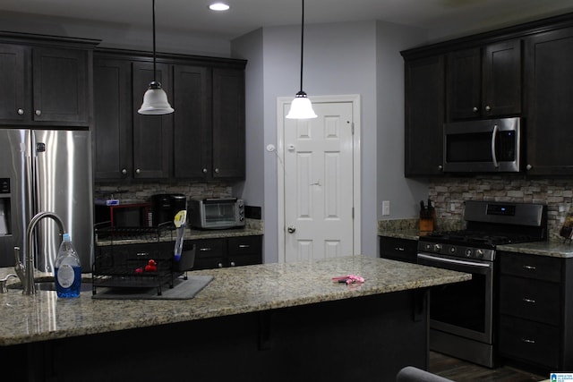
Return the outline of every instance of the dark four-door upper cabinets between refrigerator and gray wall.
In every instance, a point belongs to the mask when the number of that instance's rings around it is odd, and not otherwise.
[[[98,49],[96,180],[244,179],[244,60],[162,55],[157,80],[175,113],[139,115],[149,55]]]

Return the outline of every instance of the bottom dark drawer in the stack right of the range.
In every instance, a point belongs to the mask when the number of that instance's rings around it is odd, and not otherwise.
[[[500,317],[500,355],[559,369],[559,329],[519,318]]]

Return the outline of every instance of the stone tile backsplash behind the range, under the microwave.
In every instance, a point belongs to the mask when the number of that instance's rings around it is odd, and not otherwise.
[[[573,179],[526,179],[515,174],[440,178],[431,181],[428,197],[434,202],[439,228],[440,222],[463,219],[465,200],[547,204],[549,233],[555,238],[573,205]]]

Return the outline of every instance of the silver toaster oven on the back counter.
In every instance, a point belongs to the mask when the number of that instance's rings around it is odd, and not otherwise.
[[[225,229],[244,226],[244,201],[236,198],[192,198],[189,223],[199,229]]]

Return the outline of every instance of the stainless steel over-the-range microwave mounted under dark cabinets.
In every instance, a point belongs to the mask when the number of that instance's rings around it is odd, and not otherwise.
[[[517,173],[521,120],[517,117],[446,123],[444,173]]]

